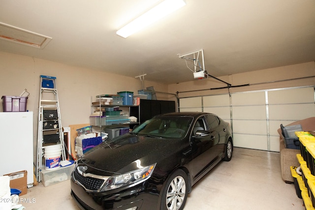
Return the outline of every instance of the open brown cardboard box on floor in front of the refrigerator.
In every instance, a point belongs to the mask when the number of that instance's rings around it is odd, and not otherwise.
[[[5,174],[3,176],[10,177],[10,188],[21,190],[22,192],[20,193],[20,195],[25,195],[28,192],[28,172],[26,170],[14,172],[11,174]]]

